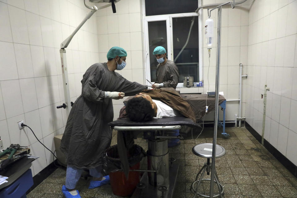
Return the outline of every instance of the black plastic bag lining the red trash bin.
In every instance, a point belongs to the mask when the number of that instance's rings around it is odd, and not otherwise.
[[[146,152],[141,146],[134,144],[131,149],[127,151],[129,166],[132,167],[142,160],[146,156]],[[106,174],[123,170],[120,157],[118,155],[118,145],[110,146],[104,151],[103,157],[103,169]]]

